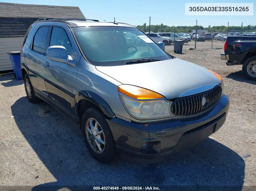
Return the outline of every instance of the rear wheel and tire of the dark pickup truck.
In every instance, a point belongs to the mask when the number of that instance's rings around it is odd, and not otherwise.
[[[242,71],[243,71],[243,74],[248,79],[256,81],[256,56],[248,58],[244,62]]]

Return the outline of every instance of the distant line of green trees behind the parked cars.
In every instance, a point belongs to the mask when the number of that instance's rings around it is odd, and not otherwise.
[[[144,23],[143,25],[138,25],[136,27],[140,28],[144,32],[149,31],[149,25],[147,25],[146,23]],[[154,33],[157,33],[157,32],[192,33],[192,30],[195,30],[195,29],[196,29],[196,25],[194,25],[194,26],[171,26],[171,27],[164,25],[164,24],[150,25],[150,30]],[[228,30],[229,31],[232,31],[232,30],[241,31],[241,26],[226,27],[226,26],[222,25],[222,26],[212,26],[211,27],[211,25],[209,25],[208,27],[197,26],[197,29],[198,30],[211,30],[211,31],[214,30],[214,31],[218,31],[218,32],[227,32]],[[256,30],[256,25],[255,26],[252,26],[252,25],[243,26],[243,28],[242,28],[243,32],[251,32],[252,30]]]

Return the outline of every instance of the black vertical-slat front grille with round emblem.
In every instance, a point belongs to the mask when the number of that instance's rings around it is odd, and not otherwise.
[[[171,113],[176,116],[189,116],[203,112],[214,106],[214,104],[220,99],[221,95],[221,86],[217,86],[199,94],[177,98],[171,105]],[[206,102],[202,106],[203,97]]]

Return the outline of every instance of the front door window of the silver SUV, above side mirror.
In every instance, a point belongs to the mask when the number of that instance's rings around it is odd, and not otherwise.
[[[71,53],[71,44],[69,42],[68,35],[62,28],[52,27],[50,46],[64,46],[68,55]]]

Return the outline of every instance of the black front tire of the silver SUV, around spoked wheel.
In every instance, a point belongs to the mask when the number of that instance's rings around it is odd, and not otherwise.
[[[90,120],[93,121],[93,119],[95,119],[95,122],[97,121],[97,123],[99,124],[97,126],[97,129],[92,130],[92,132],[100,132],[101,130],[103,131],[103,133],[101,133],[101,135],[97,135],[97,136],[94,136],[93,134],[91,134],[88,130],[87,130],[87,127],[88,126],[87,124],[90,124]],[[93,122],[92,122],[93,123]],[[94,123],[94,126],[95,126],[95,123]],[[89,126],[90,128],[90,126]],[[103,114],[97,110],[96,108],[94,107],[90,107],[88,108],[87,110],[85,110],[83,116],[82,116],[82,132],[83,132],[83,138],[84,138],[84,141],[85,141],[85,145],[88,149],[88,151],[90,152],[90,154],[97,160],[97,161],[100,161],[102,163],[110,163],[114,156],[115,156],[115,153],[116,153],[116,147],[115,147],[115,142],[114,142],[114,138],[113,138],[113,135],[112,135],[112,132],[108,126],[108,123],[106,122]],[[91,140],[89,140],[90,138],[88,138],[90,135],[91,136]],[[100,144],[100,147],[97,146],[96,143],[96,138],[97,137],[97,140],[100,140],[101,141],[104,141],[105,142],[105,145],[103,147],[103,144]],[[100,138],[99,138],[100,137]],[[103,140],[104,138],[104,140]],[[93,149],[93,142],[95,141],[95,148],[97,149]],[[100,143],[100,142],[97,142],[97,143]],[[100,151],[100,149],[102,149],[102,151]]]

